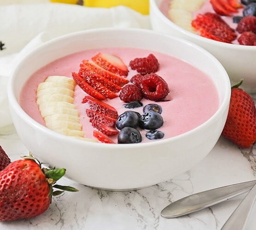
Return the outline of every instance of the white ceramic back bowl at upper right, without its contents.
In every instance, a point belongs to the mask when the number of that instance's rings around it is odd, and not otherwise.
[[[189,40],[211,52],[226,69],[232,85],[244,78],[244,88],[256,93],[256,46],[228,44],[193,34],[168,19],[159,9],[162,0],[149,0],[149,14],[152,29],[168,35]]]

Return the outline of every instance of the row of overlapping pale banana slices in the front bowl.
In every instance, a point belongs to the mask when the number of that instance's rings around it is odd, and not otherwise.
[[[36,103],[46,127],[67,136],[84,138],[79,112],[74,101],[75,81],[66,76],[48,76],[36,91]]]

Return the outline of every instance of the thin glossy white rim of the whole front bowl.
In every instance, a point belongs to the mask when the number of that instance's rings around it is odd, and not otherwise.
[[[105,33],[105,32],[109,32],[111,31],[112,33],[116,33],[117,31],[123,31],[123,32],[136,32],[136,33],[148,33],[148,34],[154,34],[157,36],[163,36],[163,37],[167,37],[170,38],[172,40],[177,40],[179,42],[183,42],[186,45],[189,46],[193,46],[195,47],[197,50],[199,50],[200,52],[203,52],[205,55],[208,55],[216,64],[218,64],[220,66],[220,68],[223,70],[223,74],[225,74],[225,81],[223,83],[226,84],[226,91],[225,91],[225,95],[223,100],[221,101],[221,103],[219,104],[219,108],[215,111],[215,113],[207,120],[204,121],[201,125],[191,129],[190,131],[184,132],[182,134],[179,134],[177,136],[171,137],[171,138],[166,138],[166,139],[161,139],[161,140],[156,140],[156,141],[152,141],[152,142],[146,142],[146,143],[139,143],[138,144],[104,144],[104,143],[99,143],[99,142],[92,142],[92,141],[84,141],[81,139],[77,139],[77,138],[71,138],[69,136],[65,136],[63,134],[60,134],[58,132],[55,132],[53,130],[50,130],[49,128],[41,125],[40,123],[38,123],[37,121],[35,121],[33,118],[31,118],[20,106],[20,104],[18,103],[18,99],[15,96],[15,92],[14,92],[14,83],[15,83],[15,75],[17,75],[18,69],[20,68],[20,66],[23,65],[23,63],[30,58],[31,56],[33,57],[36,52],[38,52],[41,49],[44,49],[45,46],[54,44],[55,42],[58,42],[59,40],[66,40],[69,39],[73,36],[81,36],[84,34],[90,34],[90,33]],[[17,65],[15,66],[14,69],[12,69],[11,75],[9,77],[9,81],[7,84],[7,93],[8,93],[8,102],[9,102],[9,106],[12,107],[12,109],[16,112],[16,114],[18,114],[18,116],[23,119],[27,124],[30,124],[30,126],[35,127],[36,129],[38,129],[41,132],[44,132],[46,135],[51,135],[52,138],[56,138],[56,139],[60,139],[60,140],[64,140],[65,142],[74,142],[76,144],[81,144],[81,145],[92,145],[92,146],[98,146],[99,149],[100,148],[117,148],[117,149],[122,149],[124,148],[123,146],[125,146],[126,148],[130,148],[130,149],[134,149],[137,147],[145,147],[145,146],[151,146],[151,145],[162,145],[165,144],[166,142],[172,142],[175,141],[177,139],[186,137],[188,135],[193,135],[194,132],[196,132],[197,130],[202,129],[202,127],[207,126],[208,123],[210,123],[212,120],[215,119],[215,117],[218,117],[224,110],[225,107],[228,106],[229,101],[230,101],[230,94],[231,94],[231,86],[230,86],[230,81],[229,81],[229,77],[226,73],[226,70],[224,69],[224,67],[221,65],[221,63],[217,60],[216,57],[214,57],[210,52],[206,51],[205,49],[203,49],[202,47],[187,41],[185,39],[181,39],[181,38],[177,38],[174,37],[172,35],[165,35],[162,34],[160,32],[156,32],[150,29],[136,29],[136,28],[100,28],[100,29],[88,29],[88,30],[83,30],[83,31],[78,31],[78,32],[73,32],[73,33],[69,33],[66,35],[61,35],[59,37],[56,37],[54,39],[51,39],[45,43],[43,43],[42,45],[36,47],[33,51],[29,52],[28,54],[26,54],[20,61],[19,63],[17,63]]]

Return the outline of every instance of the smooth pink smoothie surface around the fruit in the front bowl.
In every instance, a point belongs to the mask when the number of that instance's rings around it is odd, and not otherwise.
[[[130,60],[135,57],[146,57],[151,53],[148,50],[133,48],[104,48],[74,53],[49,63],[47,66],[39,69],[25,83],[19,98],[20,105],[24,111],[37,122],[44,125],[36,104],[36,88],[38,84],[50,75],[71,77],[71,72],[78,72],[81,60],[90,60],[98,52],[109,53],[120,57],[129,68],[128,80],[137,73],[129,67]],[[216,88],[208,76],[199,69],[177,58],[159,52],[152,53],[154,53],[160,63],[160,69],[156,74],[167,81],[170,89],[170,93],[167,96],[170,101],[157,102],[163,109],[161,115],[164,119],[164,125],[159,130],[165,133],[164,138],[170,138],[187,132],[208,120],[219,106]],[[87,103],[81,103],[85,95],[87,94],[79,86],[75,87],[74,103],[80,112],[80,121],[83,125],[85,137],[93,138],[93,127],[89,123],[89,118],[85,112],[85,109],[89,108],[89,105]],[[117,109],[119,115],[125,110],[128,110],[124,107],[125,103],[119,97],[107,99],[104,102]],[[144,106],[155,102],[143,98],[142,103]],[[140,107],[135,110],[143,114],[142,109],[143,107]],[[143,142],[153,141],[145,137],[145,131],[141,133]],[[117,136],[112,137],[112,139],[117,142]]]

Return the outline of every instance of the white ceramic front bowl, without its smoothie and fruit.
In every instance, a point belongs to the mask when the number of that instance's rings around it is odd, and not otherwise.
[[[111,46],[149,49],[191,63],[208,73],[217,86],[219,109],[199,127],[173,138],[154,143],[101,144],[53,132],[30,118],[18,104],[24,82],[37,69],[74,52]],[[81,184],[106,190],[133,190],[184,173],[212,150],[226,121],[230,81],[215,57],[185,40],[152,30],[95,29],[62,36],[31,52],[13,71],[8,94],[18,135],[42,162],[66,168],[66,176]]]

